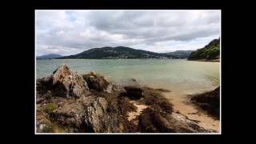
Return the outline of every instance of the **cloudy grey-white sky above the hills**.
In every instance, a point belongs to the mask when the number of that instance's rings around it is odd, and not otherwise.
[[[36,55],[104,46],[197,50],[220,37],[220,10],[35,10]]]

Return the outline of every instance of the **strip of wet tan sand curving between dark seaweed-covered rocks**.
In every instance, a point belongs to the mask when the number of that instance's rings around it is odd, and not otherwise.
[[[174,105],[174,110],[186,115],[188,118],[195,120],[198,124],[208,130],[220,130],[219,120],[198,111],[196,107],[189,101],[186,94],[179,94],[177,92],[163,93],[163,95],[170,100]]]

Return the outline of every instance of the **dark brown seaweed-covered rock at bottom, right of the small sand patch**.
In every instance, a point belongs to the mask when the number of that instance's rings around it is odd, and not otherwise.
[[[139,128],[141,132],[151,133],[209,133],[197,122],[190,120],[182,114],[161,114],[157,110],[147,108],[139,116]]]

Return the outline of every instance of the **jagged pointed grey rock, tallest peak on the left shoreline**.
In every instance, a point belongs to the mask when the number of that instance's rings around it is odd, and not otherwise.
[[[50,77],[37,81],[37,102],[52,96],[80,98],[89,93],[87,83],[82,76],[70,70],[66,64],[62,64],[54,70]]]

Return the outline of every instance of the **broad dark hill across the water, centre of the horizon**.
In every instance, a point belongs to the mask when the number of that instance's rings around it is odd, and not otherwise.
[[[181,58],[175,54],[159,54],[146,50],[136,50],[130,47],[102,47],[83,51],[79,54],[58,59],[126,59],[126,58]]]

